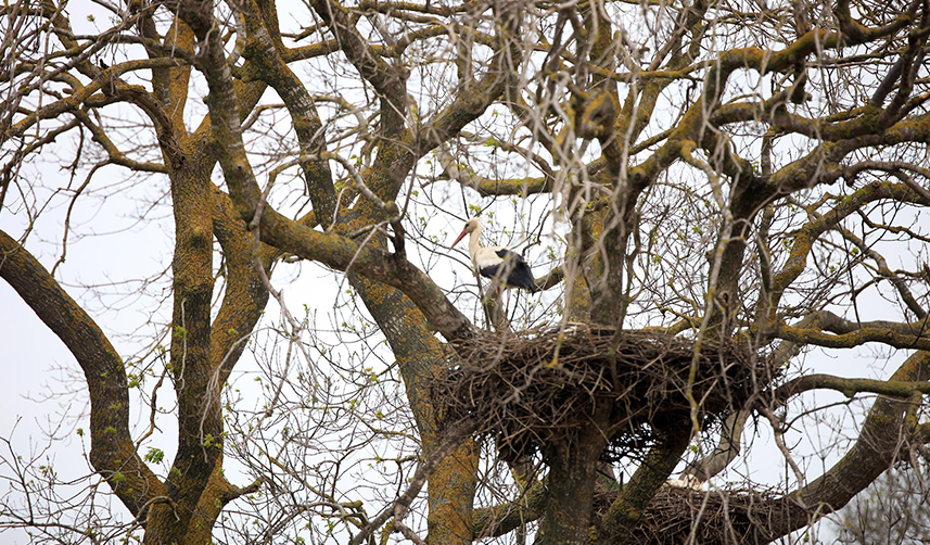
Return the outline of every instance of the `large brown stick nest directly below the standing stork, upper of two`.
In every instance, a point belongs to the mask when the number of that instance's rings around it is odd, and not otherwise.
[[[706,427],[742,406],[762,366],[736,342],[704,342],[698,350],[691,339],[584,324],[480,332],[455,350],[437,393],[449,416],[473,419],[505,457],[571,439],[604,411],[611,452],[629,455],[652,444],[654,430],[690,429],[689,383]]]

